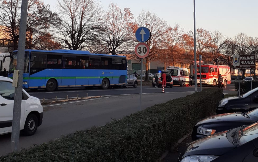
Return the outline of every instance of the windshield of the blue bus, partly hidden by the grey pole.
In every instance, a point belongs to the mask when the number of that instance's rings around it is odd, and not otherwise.
[[[9,73],[13,73],[14,70],[17,69],[17,51],[12,53],[13,59],[11,59],[10,62],[10,67],[9,67]],[[23,73],[28,73],[29,72],[29,52],[25,52],[25,58],[24,58],[24,72]]]

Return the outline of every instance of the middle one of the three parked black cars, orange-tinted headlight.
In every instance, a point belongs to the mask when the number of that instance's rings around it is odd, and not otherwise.
[[[192,132],[192,140],[197,140],[217,132],[250,125],[258,121],[258,108],[250,112],[227,113],[210,116],[198,121]]]

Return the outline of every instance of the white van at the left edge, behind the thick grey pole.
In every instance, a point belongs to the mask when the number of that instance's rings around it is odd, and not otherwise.
[[[0,76],[0,135],[12,131],[14,89],[12,79]],[[30,96],[22,89],[20,130],[27,136],[35,134],[42,118],[40,99]]]

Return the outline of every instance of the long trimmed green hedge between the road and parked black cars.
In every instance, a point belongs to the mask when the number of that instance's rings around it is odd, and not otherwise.
[[[105,126],[8,154],[0,161],[156,161],[178,139],[191,132],[200,118],[215,112],[221,96],[221,89],[204,89]]]

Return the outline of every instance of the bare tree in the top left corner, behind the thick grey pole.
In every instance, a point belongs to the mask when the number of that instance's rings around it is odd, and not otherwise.
[[[0,33],[11,40],[10,50],[18,49],[20,11],[21,0],[0,0]],[[46,34],[46,29],[56,22],[57,14],[50,11],[49,5],[41,0],[28,0],[26,48],[31,49],[33,40]]]

